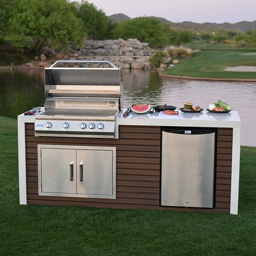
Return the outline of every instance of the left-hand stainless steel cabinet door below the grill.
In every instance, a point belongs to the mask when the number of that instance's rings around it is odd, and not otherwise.
[[[75,150],[41,148],[41,159],[42,193],[76,193]]]

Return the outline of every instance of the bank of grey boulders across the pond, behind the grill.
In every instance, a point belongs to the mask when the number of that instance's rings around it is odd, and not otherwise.
[[[109,60],[120,68],[150,68],[154,49],[137,39],[85,41],[84,46],[70,46],[69,53],[55,54],[56,60]]]

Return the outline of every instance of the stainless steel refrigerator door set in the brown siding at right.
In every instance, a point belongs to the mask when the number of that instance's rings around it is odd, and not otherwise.
[[[215,132],[162,130],[161,205],[214,207]]]

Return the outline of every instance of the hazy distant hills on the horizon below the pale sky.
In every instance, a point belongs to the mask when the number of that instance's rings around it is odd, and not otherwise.
[[[122,20],[131,20],[130,17],[124,14],[113,14],[108,16],[110,20],[114,22],[121,22]],[[209,31],[212,32],[214,30],[233,30],[233,31],[248,31],[248,30],[256,30],[256,20],[254,22],[237,22],[237,23],[196,23],[196,22],[170,22],[166,20],[166,18],[154,17],[158,18],[161,22],[168,23],[172,26],[174,30],[190,30],[190,31]]]

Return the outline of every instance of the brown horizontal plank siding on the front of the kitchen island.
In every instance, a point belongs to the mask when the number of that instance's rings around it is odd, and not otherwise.
[[[34,137],[25,124],[28,204],[229,212],[232,129],[218,129],[215,209],[160,206],[161,127],[120,126],[119,139]],[[38,196],[38,144],[116,146],[116,199]]]

